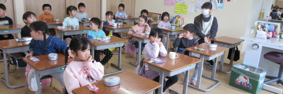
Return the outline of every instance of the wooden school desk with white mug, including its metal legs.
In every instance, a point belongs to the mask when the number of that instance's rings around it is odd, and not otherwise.
[[[169,54],[166,57],[158,56],[158,58],[164,60],[164,63],[149,63],[150,59],[143,60],[143,62],[148,64],[148,69],[154,70],[160,73],[159,83],[161,83],[161,87],[158,89],[158,94],[162,94],[163,89],[163,80],[165,76],[174,76],[182,72],[186,72],[184,86],[183,86],[183,94],[187,94],[188,89],[188,81],[189,81],[189,70],[195,67],[192,67],[194,64],[202,61],[200,59],[178,54],[178,58],[170,59]]]

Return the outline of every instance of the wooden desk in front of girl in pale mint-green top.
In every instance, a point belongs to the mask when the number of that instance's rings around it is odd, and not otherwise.
[[[56,32],[60,34],[61,40],[63,41],[63,36],[67,35],[76,35],[76,34],[87,34],[90,30],[89,27],[86,26],[77,26],[77,28],[71,28],[70,26],[66,27],[65,29],[58,29],[57,27],[54,27],[53,29],[56,29]]]

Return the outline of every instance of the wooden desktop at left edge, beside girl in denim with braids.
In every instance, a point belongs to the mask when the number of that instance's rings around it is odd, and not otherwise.
[[[16,39],[0,40],[0,48],[9,49],[9,48],[29,46],[30,42],[31,41],[16,42]]]

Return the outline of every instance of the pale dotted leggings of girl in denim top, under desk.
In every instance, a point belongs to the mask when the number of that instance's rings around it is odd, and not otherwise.
[[[29,86],[31,86],[31,78],[35,77],[35,70],[31,69],[28,75],[28,79],[27,79],[27,83]],[[58,73],[53,73],[50,76],[52,76],[54,79],[56,79],[57,81],[60,82],[62,87],[65,87],[65,83],[64,83],[64,71],[62,72],[58,72]],[[40,78],[42,77],[42,75],[39,76]]]

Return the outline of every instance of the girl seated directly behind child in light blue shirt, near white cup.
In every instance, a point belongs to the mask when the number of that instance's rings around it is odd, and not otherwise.
[[[117,22],[115,21],[115,15],[114,15],[111,11],[106,12],[106,13],[105,13],[105,17],[106,17],[106,21],[103,22],[103,25],[108,25],[108,24],[117,23]],[[104,31],[104,33],[105,33],[107,36],[110,35],[110,34],[109,34],[109,31],[105,30],[105,27],[103,27],[102,30]],[[119,33],[113,33],[113,32],[111,32],[111,33],[112,33],[112,35],[121,38],[121,36],[120,36]],[[122,48],[125,50],[125,45],[123,45]],[[117,47],[117,48],[115,48],[115,49],[116,49],[116,52],[114,52],[114,53],[118,53],[118,52],[119,52],[119,47]],[[112,51],[112,50],[110,50],[110,51]],[[125,53],[125,51],[122,51],[122,52]]]

